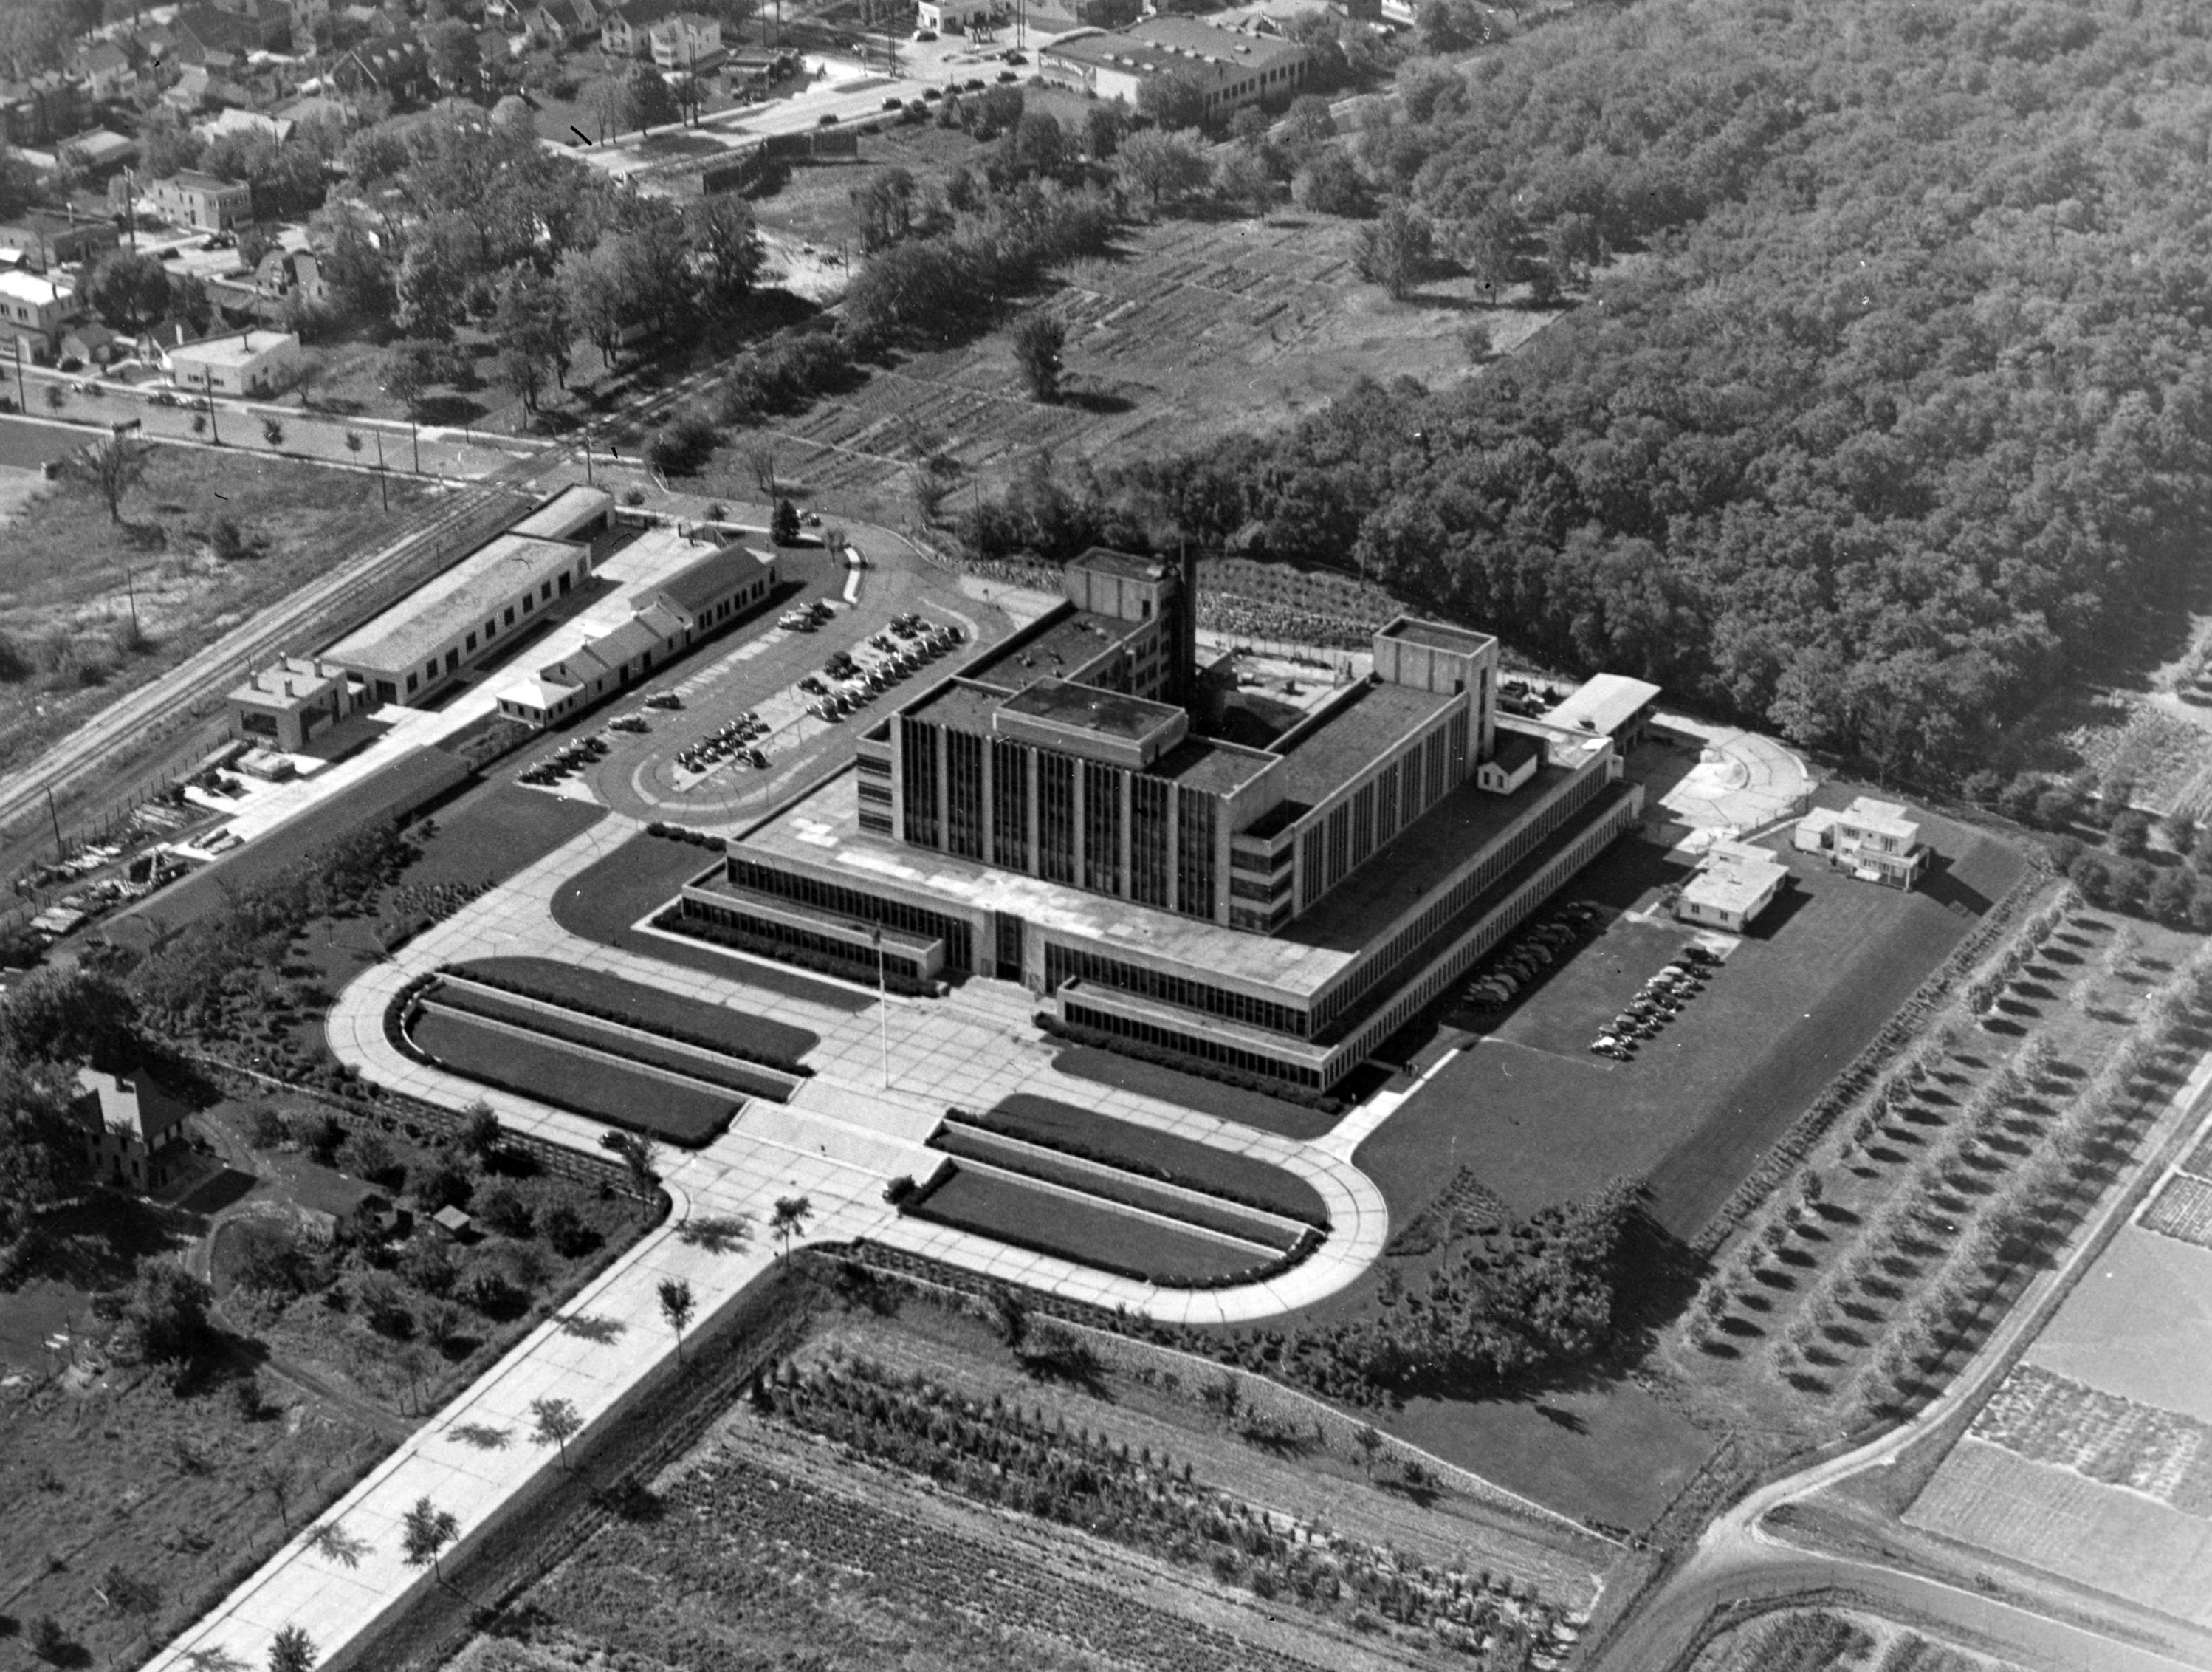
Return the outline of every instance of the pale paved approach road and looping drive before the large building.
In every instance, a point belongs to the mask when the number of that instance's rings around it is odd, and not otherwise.
[[[768,1267],[765,1223],[779,1196],[812,1201],[810,1241],[872,1236],[1164,1323],[1241,1323],[1312,1305],[1380,1256],[1389,1234],[1383,1196],[1332,1146],[1283,1139],[1060,1073],[1053,1048],[1035,1037],[1020,989],[978,980],[947,1000],[894,997],[885,1013],[874,995],[858,1006],[792,997],[785,991],[790,973],[781,966],[774,966],[774,986],[752,984],[748,971],[759,964],[737,955],[726,975],[706,975],[582,940],[555,924],[555,891],[639,829],[619,814],[599,821],[363,973],[330,1013],[332,1051],[394,1090],[449,1108],[482,1099],[513,1128],[595,1150],[606,1130],[602,1124],[425,1068],[385,1039],[385,1009],[422,971],[467,958],[538,955],[810,1028],[821,1035],[821,1046],[807,1055],[814,1077],[785,1106],[750,1104],[728,1132],[697,1152],[664,1150],[664,1183],[675,1201],[668,1225],[648,1234],[562,1318],[531,1334],[321,1517],[319,1526],[338,1528],[343,1555],[334,1555],[327,1542],[310,1544],[303,1533],[155,1657],[153,1672],[223,1663],[192,1659],[219,1654],[241,1665],[265,1665],[270,1639],[288,1623],[314,1639],[325,1663],[338,1657],[429,1584],[400,1559],[407,1508],[429,1497],[451,1511],[460,1522],[456,1550],[467,1550],[469,1539],[493,1526],[555,1455],[529,1438],[535,1424],[531,1402],[571,1400],[588,1433],[591,1424],[615,1415],[626,1396],[670,1373],[675,1336],[659,1314],[659,1283],[690,1283],[699,1303],[692,1327],[706,1327]],[[883,1084],[885,1037],[889,1086]],[[947,1106],[989,1108],[1013,1093],[1055,1097],[1274,1161],[1321,1192],[1334,1230],[1321,1250],[1279,1278],[1192,1292],[1024,1254],[982,1236],[900,1219],[885,1205],[883,1185],[889,1179],[922,1177],[936,1166],[938,1152],[925,1148],[925,1139]],[[745,1216],[754,1234],[719,1254],[688,1245],[681,1225],[706,1216]]]

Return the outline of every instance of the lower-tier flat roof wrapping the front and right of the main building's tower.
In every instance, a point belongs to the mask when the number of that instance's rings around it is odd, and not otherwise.
[[[1219,748],[1219,745],[1217,745]],[[856,889],[898,887],[964,909],[1009,911],[1060,936],[1097,942],[1106,958],[1126,953],[1179,964],[1199,975],[1312,1000],[1391,922],[1440,887],[1473,854],[1504,834],[1571,774],[1544,767],[1511,796],[1460,787],[1391,843],[1387,858],[1354,871],[1314,911],[1276,936],[1183,918],[1113,900],[980,860],[907,847],[860,829],[856,772],[827,778],[803,801],[737,838],[737,858],[792,863],[838,876]],[[1119,949],[1119,953],[1117,953]]]

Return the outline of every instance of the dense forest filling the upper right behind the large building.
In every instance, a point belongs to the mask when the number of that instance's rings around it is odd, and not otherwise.
[[[1891,774],[2017,765],[2006,725],[2139,655],[2205,537],[2208,29],[1646,0],[1413,64],[1352,157],[1571,310],[1449,389],[1033,480],[971,535],[1256,531]]]

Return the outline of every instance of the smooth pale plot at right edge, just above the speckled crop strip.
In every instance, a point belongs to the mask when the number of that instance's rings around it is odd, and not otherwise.
[[[2124,1227],[2028,1362],[2212,1422],[2212,1252]]]

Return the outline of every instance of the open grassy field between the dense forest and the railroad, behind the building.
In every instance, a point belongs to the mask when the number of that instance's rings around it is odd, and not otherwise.
[[[761,208],[765,219],[772,201]],[[1091,464],[1166,458],[1254,422],[1287,425],[1363,376],[1449,383],[1471,372],[1455,343],[1469,321],[1486,321],[1509,349],[1546,318],[1480,307],[1464,279],[1389,301],[1352,272],[1356,232],[1356,221],[1292,212],[1126,228],[1115,254],[1075,263],[1040,303],[1068,327],[1060,405],[1029,400],[1000,330],[911,354],[737,442],[772,438],[790,480],[896,522],[909,513],[900,469],[918,436],[989,491],[1037,449]],[[743,480],[728,449],[714,471],[728,491]]]

